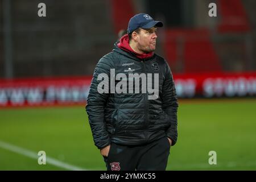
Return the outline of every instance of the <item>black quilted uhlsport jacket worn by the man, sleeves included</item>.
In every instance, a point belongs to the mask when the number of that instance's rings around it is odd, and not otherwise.
[[[142,93],[141,89],[139,93],[110,93],[110,89],[99,93],[97,88],[102,80],[97,80],[98,75],[105,73],[110,77],[110,69],[115,69],[115,75],[125,73],[127,77],[129,73],[159,73],[159,97],[149,100],[148,92]],[[115,80],[115,85],[118,81]],[[171,138],[174,145],[177,140],[177,107],[172,73],[162,57],[154,54],[141,60],[115,44],[113,51],[98,61],[86,105],[94,143],[98,148],[112,142],[145,144],[164,136]]]

